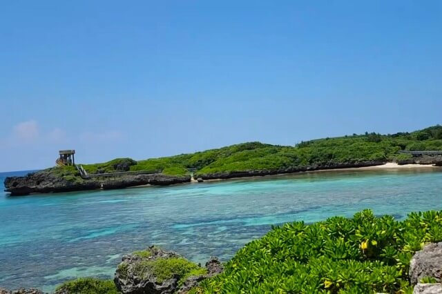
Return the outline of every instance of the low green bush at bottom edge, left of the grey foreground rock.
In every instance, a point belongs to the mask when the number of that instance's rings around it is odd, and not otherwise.
[[[56,291],[75,294],[119,293],[113,280],[99,280],[95,277],[80,277],[77,280],[64,282],[60,286],[57,286]]]

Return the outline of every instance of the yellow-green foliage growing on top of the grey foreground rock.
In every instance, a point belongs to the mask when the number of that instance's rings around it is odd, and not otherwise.
[[[202,275],[206,270],[182,257],[171,257],[139,262],[135,265],[134,272],[142,278],[146,277],[147,273],[153,273],[157,282],[162,283],[175,275],[180,277],[182,282],[186,277]]]

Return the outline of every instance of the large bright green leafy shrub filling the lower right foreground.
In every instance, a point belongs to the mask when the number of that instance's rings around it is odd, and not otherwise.
[[[442,210],[294,222],[250,242],[193,293],[412,293],[410,259],[442,240]]]

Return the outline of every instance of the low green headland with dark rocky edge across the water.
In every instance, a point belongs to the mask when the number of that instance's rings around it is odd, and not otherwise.
[[[342,168],[391,168],[391,164],[442,166],[442,155],[410,154],[410,151],[429,150],[442,151],[442,126],[412,133],[365,133],[314,139],[295,146],[248,142],[171,157],[140,161],[119,158],[102,164],[81,164],[89,177],[82,176],[75,166],[55,166],[25,177],[8,177],[4,184],[10,195],[28,195]],[[151,170],[157,172],[146,173]]]

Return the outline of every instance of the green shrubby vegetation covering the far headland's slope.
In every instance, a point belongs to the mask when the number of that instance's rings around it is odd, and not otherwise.
[[[303,141],[296,146],[249,142],[193,154],[133,161],[131,170],[163,170],[166,175],[187,175],[187,168],[195,168],[195,173],[198,175],[278,170],[315,164],[393,161],[408,157],[408,155],[397,155],[398,150],[442,150],[442,126],[394,135],[366,133],[316,139]],[[99,169],[109,173],[116,171],[115,165],[121,161],[132,161],[132,159],[113,159],[103,164],[85,164],[84,168],[88,173],[96,173]]]

